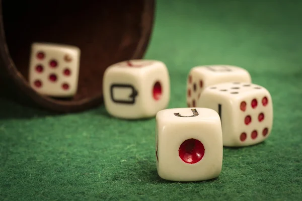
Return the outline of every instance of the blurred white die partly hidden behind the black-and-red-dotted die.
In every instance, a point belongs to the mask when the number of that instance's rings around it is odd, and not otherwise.
[[[223,82],[251,82],[250,73],[238,66],[207,65],[193,67],[187,80],[187,105],[196,107],[201,92],[210,85]]]

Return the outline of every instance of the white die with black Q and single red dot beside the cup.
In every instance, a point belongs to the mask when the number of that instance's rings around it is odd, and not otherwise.
[[[104,104],[117,118],[154,117],[170,100],[166,65],[156,60],[130,60],[109,66],[103,77]]]

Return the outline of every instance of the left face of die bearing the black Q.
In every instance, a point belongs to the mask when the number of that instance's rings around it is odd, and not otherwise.
[[[115,117],[135,119],[143,116],[139,69],[106,69],[103,78],[103,98],[107,112]]]

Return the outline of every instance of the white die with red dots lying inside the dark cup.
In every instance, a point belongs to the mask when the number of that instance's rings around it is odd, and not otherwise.
[[[29,82],[37,92],[68,97],[77,92],[80,54],[78,47],[51,43],[33,43]]]

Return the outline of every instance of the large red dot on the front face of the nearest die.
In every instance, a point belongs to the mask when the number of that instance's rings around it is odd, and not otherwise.
[[[178,153],[182,161],[194,164],[203,158],[204,146],[199,140],[191,138],[180,145]]]

